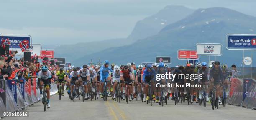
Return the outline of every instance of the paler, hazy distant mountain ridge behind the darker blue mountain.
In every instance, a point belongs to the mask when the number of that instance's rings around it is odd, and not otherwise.
[[[111,47],[130,45],[139,39],[156,35],[166,25],[177,22],[193,12],[194,10],[184,6],[169,5],[158,13],[139,20],[127,38],[77,43],[75,45],[51,45],[46,46],[46,48],[54,49],[54,56],[66,57],[67,62],[72,62],[79,57],[96,54]]]

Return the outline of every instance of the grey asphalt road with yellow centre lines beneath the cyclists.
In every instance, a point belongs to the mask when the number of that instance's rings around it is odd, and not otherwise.
[[[102,99],[72,102],[65,94],[61,101],[58,95],[51,96],[50,104],[46,112],[40,101],[20,111],[28,112],[29,117],[5,117],[3,120],[256,120],[256,110],[233,105],[212,110],[210,104],[207,107],[187,105],[187,102],[174,105],[170,100],[164,107],[134,100],[129,104],[117,103],[110,98],[107,102]]]

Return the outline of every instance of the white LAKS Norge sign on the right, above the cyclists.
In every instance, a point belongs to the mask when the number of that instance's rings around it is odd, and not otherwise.
[[[222,45],[217,43],[197,43],[197,55],[221,56]]]

